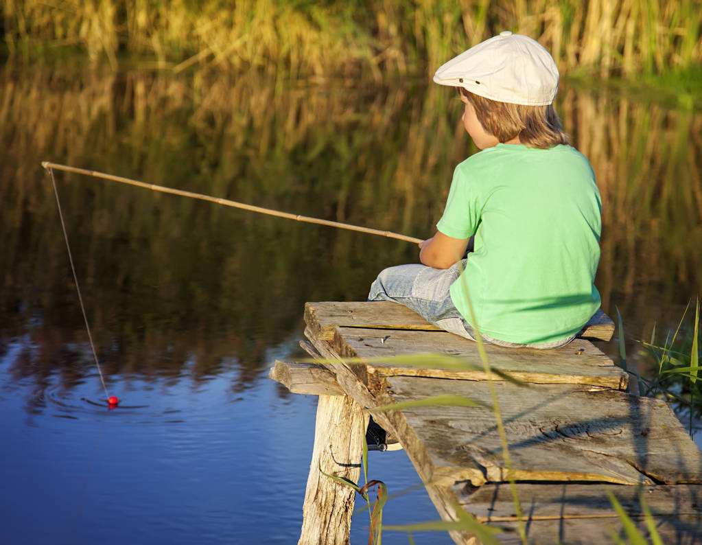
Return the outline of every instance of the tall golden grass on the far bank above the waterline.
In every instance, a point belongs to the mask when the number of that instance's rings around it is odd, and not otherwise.
[[[213,65],[300,76],[433,72],[504,29],[529,34],[563,70],[660,73],[702,60],[696,0],[4,0],[15,55],[62,46],[182,70]]]

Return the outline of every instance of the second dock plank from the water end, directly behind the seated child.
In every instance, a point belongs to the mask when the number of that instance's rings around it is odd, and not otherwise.
[[[472,381],[503,380],[495,374],[486,374],[477,350],[477,344],[445,331],[387,331],[338,327],[329,342],[332,350],[342,357],[364,359],[413,355],[416,353],[440,353],[463,358],[475,369],[436,369],[403,366],[397,362],[369,362],[368,374],[377,376],[426,376],[441,379],[464,379]],[[534,348],[503,348],[486,345],[490,365],[509,373],[515,379],[531,383],[588,384],[625,390],[628,374],[590,341],[576,339],[555,350]],[[359,377],[360,378],[360,377]]]

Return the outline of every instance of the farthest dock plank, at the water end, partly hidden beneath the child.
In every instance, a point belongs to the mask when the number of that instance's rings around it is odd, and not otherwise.
[[[322,341],[331,341],[336,327],[366,329],[410,329],[441,331],[417,313],[391,301],[324,301],[305,303],[305,323],[312,334]],[[604,313],[596,315],[578,335],[583,339],[609,341],[614,334],[614,322]]]

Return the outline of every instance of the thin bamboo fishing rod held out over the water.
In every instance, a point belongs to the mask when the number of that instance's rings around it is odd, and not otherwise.
[[[179,195],[180,197],[190,197],[191,199],[214,202],[216,204],[222,204],[223,206],[231,206],[232,208],[248,210],[250,212],[258,212],[259,214],[267,214],[268,216],[276,216],[277,218],[287,218],[289,220],[302,221],[304,223],[315,223],[317,225],[326,225],[327,227],[336,227],[339,229],[347,229],[350,231],[365,232],[369,235],[379,235],[380,237],[394,238],[398,240],[404,240],[406,242],[414,242],[415,244],[419,244],[420,242],[422,242],[422,239],[418,239],[416,237],[408,237],[407,235],[400,235],[397,232],[383,231],[380,229],[371,229],[369,227],[351,225],[350,223],[341,223],[339,221],[329,221],[322,220],[319,218],[310,218],[310,216],[300,216],[300,214],[289,214],[288,212],[281,212],[278,210],[272,210],[270,208],[263,208],[263,206],[253,206],[252,204],[231,201],[230,199],[222,199],[220,197],[212,197],[211,195],[203,195],[202,193],[194,193],[192,191],[183,191],[180,189],[166,188],[166,186],[164,185],[156,185],[155,183],[146,183],[140,180],[132,180],[131,178],[123,178],[122,176],[114,176],[112,174],[106,174],[104,172],[79,169],[76,166],[67,166],[65,164],[51,163],[48,161],[42,162],[41,166],[43,166],[44,169],[48,171],[58,170],[64,172],[72,172],[76,174],[83,174],[84,176],[101,178],[102,180],[110,180],[111,182],[126,183],[128,185],[135,185],[138,188],[150,189],[159,193],[168,193],[169,195]]]

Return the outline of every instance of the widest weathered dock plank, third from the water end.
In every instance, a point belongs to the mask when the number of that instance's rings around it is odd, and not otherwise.
[[[508,438],[505,467],[491,409],[415,407],[393,412],[395,432],[424,479],[473,485],[515,480],[625,485],[702,483],[702,454],[664,402],[571,384],[388,377],[392,402],[461,395],[491,406],[494,386]],[[371,409],[372,412],[372,409]]]

